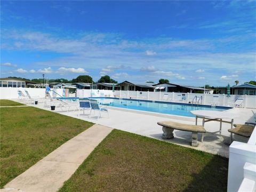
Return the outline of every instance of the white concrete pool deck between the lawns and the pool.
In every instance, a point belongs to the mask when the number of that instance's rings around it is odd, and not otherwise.
[[[15,100],[18,101],[18,100]],[[18,101],[19,102],[19,101]],[[22,101],[20,101],[22,102]],[[50,110],[50,107],[45,108],[42,102],[39,102],[38,105],[31,105],[33,107],[38,107],[45,110]],[[71,111],[62,111],[60,108],[54,110],[55,113],[60,113],[70,117],[83,119],[85,121],[93,122],[103,126],[108,126],[113,129],[123,130],[146,137],[163,140],[166,142],[175,143],[177,145],[193,148],[196,150],[206,151],[211,154],[218,154],[224,157],[228,157],[229,149],[229,137],[230,133],[227,131],[230,129],[230,124],[222,124],[222,132],[213,133],[219,131],[219,122],[207,122],[205,123],[205,129],[207,132],[204,136],[204,142],[201,142],[201,134],[199,134],[199,146],[191,147],[191,132],[174,130],[174,139],[164,140],[162,139],[162,127],[157,125],[159,121],[175,121],[178,123],[184,124],[195,124],[194,117],[183,117],[183,116],[174,116],[174,115],[165,115],[158,113],[150,113],[146,111],[137,111],[137,110],[127,110],[121,108],[109,107],[109,118],[107,118],[106,113],[102,113],[102,117],[97,120],[96,115],[98,111],[95,111],[95,116],[92,113],[89,118],[90,110],[85,111],[85,115],[78,116],[82,111],[72,111],[73,108],[70,108]],[[75,108],[74,108],[75,109]],[[234,123],[244,124],[247,121],[253,121],[253,113],[256,112],[255,109],[247,108],[233,108],[228,109],[229,113],[234,113],[237,115],[237,118],[234,119]],[[225,119],[223,119],[225,120]],[[199,119],[199,125],[202,124],[202,120]]]

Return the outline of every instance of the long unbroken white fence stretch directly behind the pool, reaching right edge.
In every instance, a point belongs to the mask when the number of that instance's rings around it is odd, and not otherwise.
[[[141,99],[151,101],[170,101],[189,103],[197,97],[202,97],[202,105],[211,105],[215,101],[217,106],[233,106],[237,98],[243,98],[243,106],[256,108],[256,95],[202,94],[202,93],[174,93],[148,91],[115,91],[112,90],[77,90],[77,97],[118,97],[126,99]],[[195,100],[194,100],[195,101]]]

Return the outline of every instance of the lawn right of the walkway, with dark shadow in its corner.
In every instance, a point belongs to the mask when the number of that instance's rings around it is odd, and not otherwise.
[[[227,191],[228,159],[113,130],[63,191]]]

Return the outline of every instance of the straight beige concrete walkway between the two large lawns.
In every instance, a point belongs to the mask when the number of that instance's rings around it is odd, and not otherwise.
[[[93,125],[7,183],[1,191],[57,191],[112,130]]]

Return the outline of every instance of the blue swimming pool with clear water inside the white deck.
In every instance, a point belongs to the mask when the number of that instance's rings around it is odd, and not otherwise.
[[[215,107],[211,106],[197,106],[187,103],[171,103],[161,101],[144,101],[144,100],[132,100],[132,99],[114,99],[114,98],[93,98],[96,99],[100,105],[119,107],[125,109],[135,109],[142,111],[150,111],[155,113],[180,115],[187,117],[195,117],[190,113],[191,110],[214,110],[223,111],[230,109],[230,107]]]

